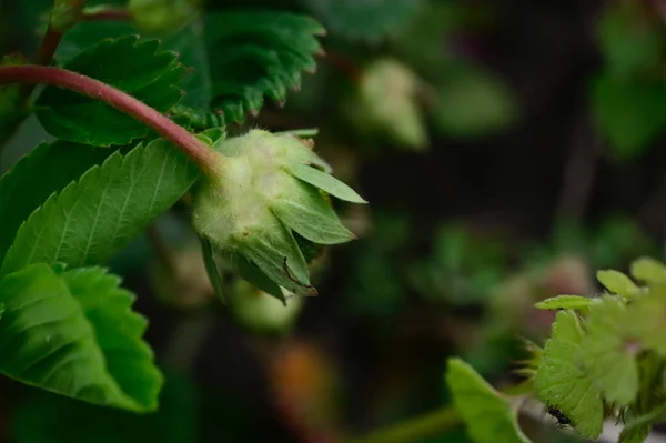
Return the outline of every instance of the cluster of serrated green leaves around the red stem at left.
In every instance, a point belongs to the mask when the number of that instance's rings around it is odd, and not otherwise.
[[[295,14],[220,12],[193,17],[161,47],[131,36],[141,20],[88,24],[65,34],[57,53],[63,68],[171,113],[192,131],[221,127],[196,135],[211,147],[224,140],[226,122],[256,112],[264,98],[284,101],[301,71],[314,69],[322,32]],[[180,61],[170,50],[182,52]],[[188,77],[181,61],[191,61],[194,73]],[[0,87],[0,127],[8,132],[24,113],[17,91]],[[213,105],[221,112],[206,119]],[[147,321],[132,311],[134,295],[100,265],[173,207],[200,172],[151,130],[88,97],[49,87],[34,111],[58,140],[0,179],[0,372],[90,403],[154,411],[163,376],[142,341]]]

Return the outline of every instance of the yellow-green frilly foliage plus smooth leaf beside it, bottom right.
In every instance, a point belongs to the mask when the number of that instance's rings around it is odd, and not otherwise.
[[[642,258],[632,264],[630,275],[634,280],[599,271],[606,289],[601,295],[558,295],[536,304],[559,312],[545,346],[528,346],[531,356],[521,369],[527,379],[514,390],[516,402],[521,395],[536,396],[584,437],[598,437],[607,417],[625,424],[620,442],[647,437],[666,415],[666,265]],[[447,381],[476,442],[493,440],[473,425],[482,413],[497,427],[504,423],[506,441],[527,441],[511,399],[487,386],[471,366],[451,361]]]

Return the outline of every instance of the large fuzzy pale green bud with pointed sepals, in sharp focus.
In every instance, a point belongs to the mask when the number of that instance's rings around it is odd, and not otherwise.
[[[294,232],[314,244],[353,240],[325,194],[365,201],[291,134],[252,130],[215,147],[220,172],[203,179],[193,194],[195,230],[243,278],[315,294]]]

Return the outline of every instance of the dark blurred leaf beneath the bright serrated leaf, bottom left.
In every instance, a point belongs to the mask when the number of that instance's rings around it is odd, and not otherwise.
[[[199,397],[192,381],[167,372],[160,409],[138,415],[46,392],[33,392],[11,421],[17,443],[190,443],[199,433]]]

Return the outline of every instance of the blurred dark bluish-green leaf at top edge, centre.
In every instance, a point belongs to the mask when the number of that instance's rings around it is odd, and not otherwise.
[[[379,41],[415,17],[422,0],[301,0],[331,31],[347,39]]]

